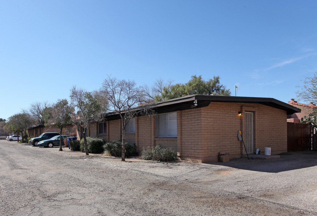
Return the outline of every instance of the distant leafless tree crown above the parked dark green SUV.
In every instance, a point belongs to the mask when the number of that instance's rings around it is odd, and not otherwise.
[[[45,124],[45,121],[51,116],[52,105],[48,101],[34,102],[28,109],[22,111],[35,118],[38,124]]]

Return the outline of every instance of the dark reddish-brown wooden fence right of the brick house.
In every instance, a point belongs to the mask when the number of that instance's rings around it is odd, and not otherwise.
[[[287,122],[287,151],[312,150],[312,126],[303,123]]]

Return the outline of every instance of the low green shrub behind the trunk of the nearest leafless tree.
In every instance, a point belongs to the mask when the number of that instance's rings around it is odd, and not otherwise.
[[[135,144],[130,144],[126,142],[125,144],[125,150],[126,150],[126,157],[137,155],[137,151],[135,148]],[[122,142],[120,141],[112,141],[107,142],[103,146],[105,152],[109,152],[114,157],[121,157],[122,156]]]

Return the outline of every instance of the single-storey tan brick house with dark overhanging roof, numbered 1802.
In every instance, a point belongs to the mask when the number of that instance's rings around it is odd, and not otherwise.
[[[287,152],[287,115],[300,112],[273,98],[217,95],[189,95],[153,106],[156,115],[129,122],[126,142],[135,143],[138,152],[154,145],[170,147],[181,159],[202,163],[218,161],[219,152],[230,159],[246,154],[237,139],[239,130],[248,153],[256,148],[264,152],[264,147],[271,147],[271,154]],[[107,114],[105,122],[90,125],[88,135],[120,140],[120,116]]]

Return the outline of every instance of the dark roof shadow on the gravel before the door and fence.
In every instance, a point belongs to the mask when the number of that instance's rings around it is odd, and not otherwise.
[[[281,158],[266,160],[236,158],[225,163],[214,162],[208,164],[267,173],[279,173],[317,166],[317,151],[287,152],[279,155]]]

